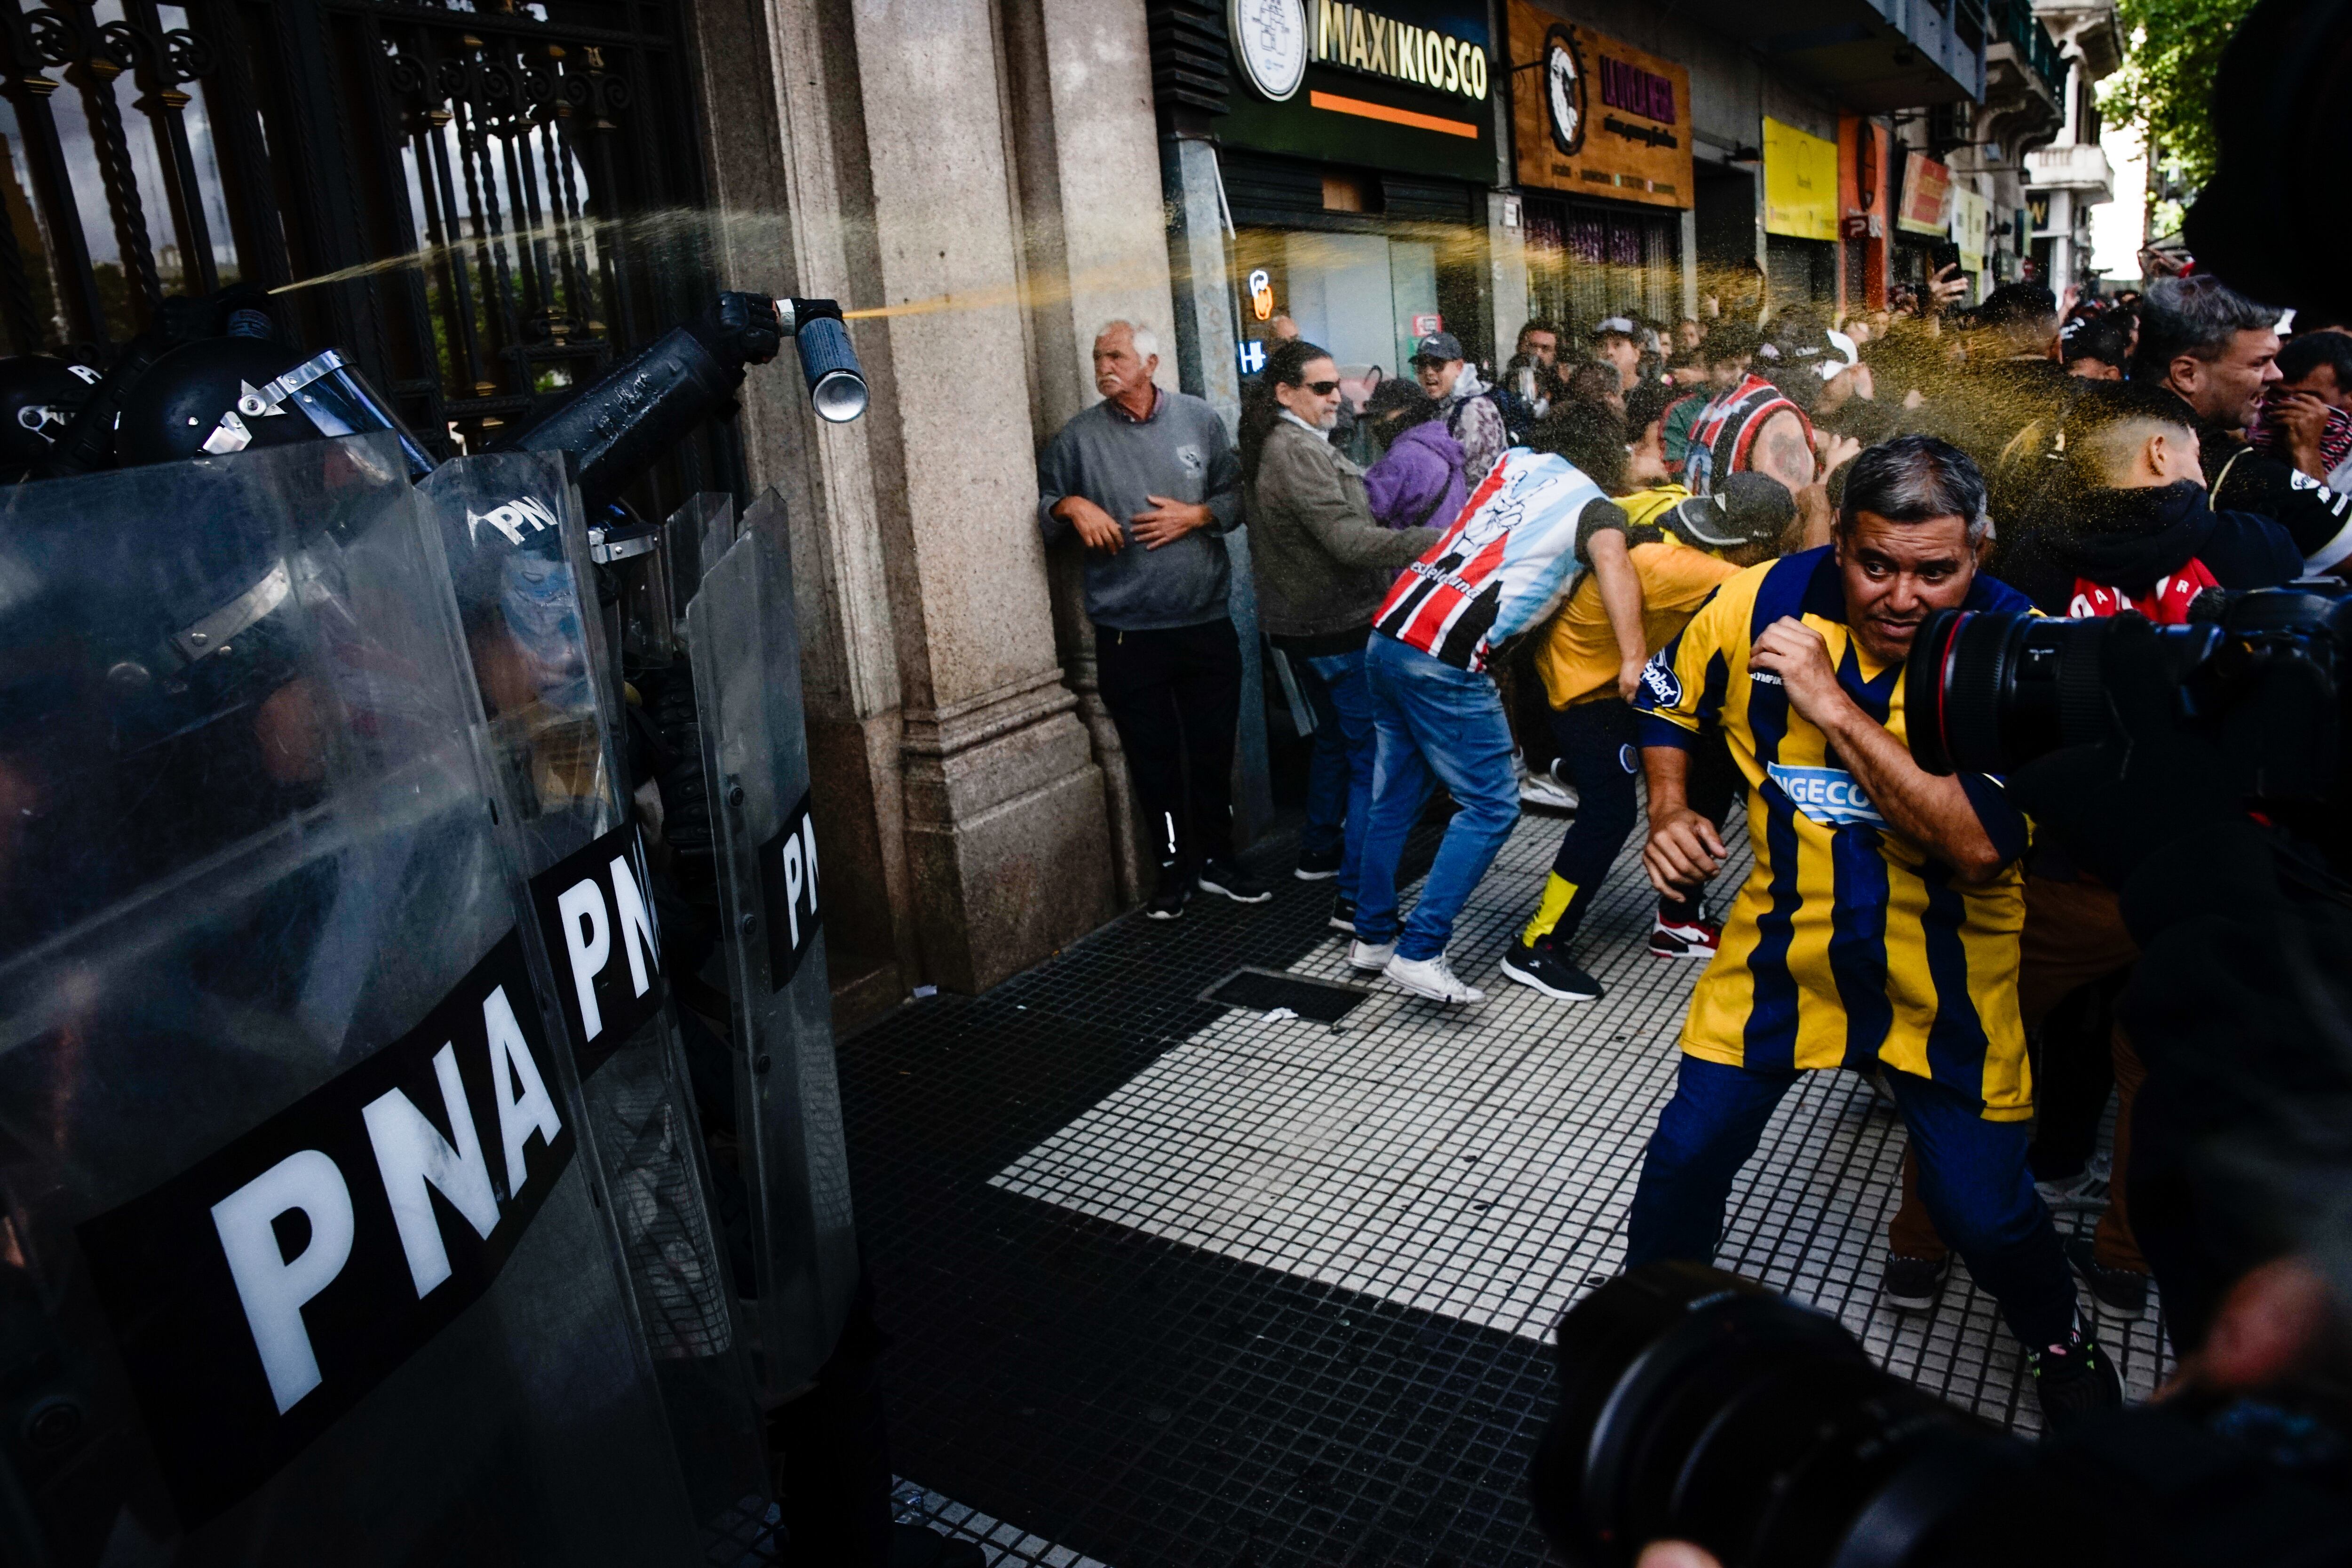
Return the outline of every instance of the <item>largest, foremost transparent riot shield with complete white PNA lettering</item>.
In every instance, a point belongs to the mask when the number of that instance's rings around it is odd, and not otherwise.
[[[390,437],[0,491],[0,1561],[691,1563]]]

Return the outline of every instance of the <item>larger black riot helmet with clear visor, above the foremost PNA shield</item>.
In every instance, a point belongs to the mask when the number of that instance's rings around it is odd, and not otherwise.
[[[129,468],[374,430],[400,437],[412,480],[433,473],[423,444],[341,350],[303,360],[268,339],[226,336],[183,343],[139,378],[122,400],[115,454]]]

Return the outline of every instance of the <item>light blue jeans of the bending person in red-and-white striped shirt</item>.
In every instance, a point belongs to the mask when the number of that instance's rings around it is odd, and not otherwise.
[[[1364,684],[1378,745],[1371,764],[1371,813],[1364,867],[1355,893],[1355,936],[1397,943],[1399,959],[1435,959],[1454,936],[1454,917],[1519,820],[1519,778],[1510,766],[1510,722],[1494,682],[1456,670],[1395,637],[1364,644]],[[1397,863],[1404,839],[1444,780],[1458,811],[1446,823],[1414,917],[1397,933]]]

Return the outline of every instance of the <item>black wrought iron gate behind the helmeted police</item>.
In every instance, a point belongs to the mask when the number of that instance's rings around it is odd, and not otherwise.
[[[494,444],[715,287],[684,28],[684,0],[0,0],[9,346],[341,275],[280,324],[442,451]],[[652,515],[734,487],[701,447]]]

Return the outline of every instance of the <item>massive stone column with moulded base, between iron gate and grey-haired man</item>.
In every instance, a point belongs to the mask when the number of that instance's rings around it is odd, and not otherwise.
[[[703,26],[706,66],[743,71],[715,59],[729,31]],[[764,0],[764,31],[802,292],[896,310],[851,324],[873,409],[816,435],[818,494],[795,517],[795,545],[814,534],[849,567],[823,585],[830,625],[807,625],[811,642],[847,628],[835,701],[863,736],[863,773],[840,799],[821,773],[818,802],[884,839],[896,818],[884,896],[910,978],[983,990],[1115,912],[1103,776],[1056,658],[1035,522],[1040,378],[997,12]]]

